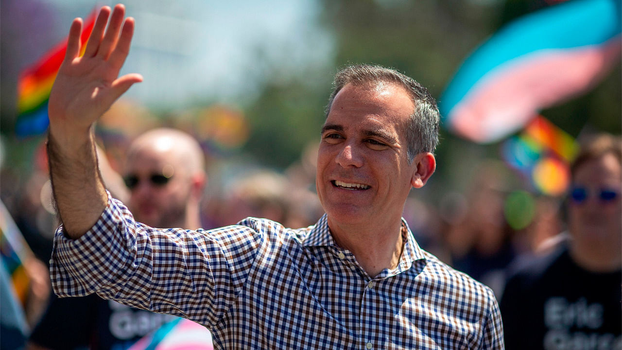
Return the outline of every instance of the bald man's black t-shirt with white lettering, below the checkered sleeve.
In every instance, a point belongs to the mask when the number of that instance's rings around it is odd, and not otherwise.
[[[124,350],[175,316],[130,308],[97,295],[53,296],[30,334],[32,343],[50,349]]]

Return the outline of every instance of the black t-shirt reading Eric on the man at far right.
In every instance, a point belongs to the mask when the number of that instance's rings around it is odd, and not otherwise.
[[[509,278],[501,298],[506,349],[622,349],[622,270],[593,273],[567,248]]]

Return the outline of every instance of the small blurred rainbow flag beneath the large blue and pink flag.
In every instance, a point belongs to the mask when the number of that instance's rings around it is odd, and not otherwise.
[[[578,152],[572,136],[536,116],[518,135],[501,144],[501,156],[541,194],[559,196],[570,185],[569,164]]]

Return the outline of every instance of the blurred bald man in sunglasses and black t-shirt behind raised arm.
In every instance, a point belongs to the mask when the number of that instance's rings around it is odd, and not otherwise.
[[[125,163],[123,179],[134,219],[152,227],[201,226],[200,201],[207,176],[203,151],[192,136],[170,128],[147,131],[132,141]],[[116,181],[118,174],[107,162],[100,162],[100,168],[104,182]],[[128,349],[173,320],[96,295],[54,298],[32,332],[28,349]],[[208,340],[204,348],[209,348],[211,335],[207,329],[203,332]]]

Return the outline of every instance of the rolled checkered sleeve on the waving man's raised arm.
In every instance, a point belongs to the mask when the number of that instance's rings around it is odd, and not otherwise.
[[[108,193],[106,209],[86,234],[72,240],[58,227],[52,288],[58,296],[97,293],[213,326],[234,302],[262,241],[262,230],[251,225],[148,227]]]

